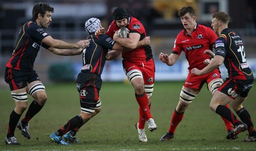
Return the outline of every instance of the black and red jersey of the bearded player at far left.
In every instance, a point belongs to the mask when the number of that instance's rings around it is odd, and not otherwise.
[[[33,70],[42,40],[46,36],[48,34],[35,21],[26,22],[19,31],[12,57],[8,60],[6,67],[15,70]],[[45,44],[42,46],[49,48]]]

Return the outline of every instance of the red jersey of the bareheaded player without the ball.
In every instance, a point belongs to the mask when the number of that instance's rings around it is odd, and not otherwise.
[[[211,28],[196,24],[191,35],[188,35],[186,29],[177,35],[172,53],[180,55],[184,51],[189,63],[188,69],[198,68],[201,70],[206,66],[204,61],[210,58],[203,52],[205,49],[211,49],[217,38],[218,36]]]

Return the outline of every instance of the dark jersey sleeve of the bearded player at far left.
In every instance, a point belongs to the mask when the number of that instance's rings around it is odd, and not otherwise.
[[[42,41],[46,36],[49,36],[47,33],[45,33],[43,28],[37,24],[34,24],[33,22],[28,22],[26,26],[28,28],[28,34],[36,40]]]

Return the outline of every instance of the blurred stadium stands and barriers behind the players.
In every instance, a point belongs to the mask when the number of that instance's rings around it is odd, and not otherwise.
[[[4,0],[0,2],[0,87],[4,82],[6,61],[13,51],[15,38],[24,22],[31,19],[33,4],[37,0]],[[67,42],[86,38],[84,22],[90,17],[102,20],[108,28],[112,12],[117,6],[127,8],[132,16],[143,22],[151,37],[156,61],[156,81],[184,80],[187,74],[186,58],[181,56],[173,67],[158,60],[159,52],[170,54],[175,36],[182,29],[177,12],[182,6],[193,6],[197,22],[211,26],[211,15],[217,11],[230,15],[229,28],[243,36],[247,61],[256,76],[256,1],[255,0],[45,0],[54,7],[52,23],[47,33]],[[198,54],[199,55],[199,54]],[[107,61],[103,81],[124,81],[121,58]],[[36,58],[35,70],[44,83],[73,81],[81,68],[81,56],[57,56],[41,49]],[[223,67],[221,70],[225,70]],[[224,75],[225,77],[225,75]]]

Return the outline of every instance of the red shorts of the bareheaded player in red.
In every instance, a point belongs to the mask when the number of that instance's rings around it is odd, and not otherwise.
[[[201,90],[204,83],[209,84],[213,79],[218,78],[221,78],[219,69],[215,69],[212,72],[209,72],[208,74],[204,74],[201,76],[196,76],[195,74],[191,74],[189,72],[188,77],[184,83],[184,86],[186,88]]]

